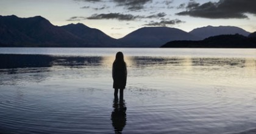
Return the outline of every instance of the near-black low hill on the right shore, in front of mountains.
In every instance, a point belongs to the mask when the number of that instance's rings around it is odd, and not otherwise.
[[[170,41],[162,48],[256,48],[256,41],[243,35],[218,35],[201,41]]]

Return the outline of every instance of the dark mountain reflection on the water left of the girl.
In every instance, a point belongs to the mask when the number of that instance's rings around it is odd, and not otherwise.
[[[62,57],[52,55],[0,54],[0,69],[52,66],[99,66],[102,57]]]

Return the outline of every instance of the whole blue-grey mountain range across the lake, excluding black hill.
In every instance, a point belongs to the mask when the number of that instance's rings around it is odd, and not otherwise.
[[[143,27],[123,38],[109,37],[98,29],[84,24],[54,26],[41,16],[19,18],[0,16],[1,47],[133,47],[158,48],[169,41],[199,41],[215,35],[238,33],[247,37],[250,33],[239,27],[207,26],[191,32],[171,27]],[[255,36],[252,33],[250,36]]]

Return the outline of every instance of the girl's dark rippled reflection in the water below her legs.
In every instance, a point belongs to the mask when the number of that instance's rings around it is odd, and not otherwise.
[[[122,133],[126,126],[126,102],[124,99],[115,98],[113,101],[113,111],[111,114],[112,125],[115,133]]]

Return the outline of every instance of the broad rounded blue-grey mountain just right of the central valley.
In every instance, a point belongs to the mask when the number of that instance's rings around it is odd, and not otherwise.
[[[160,47],[172,40],[199,40],[198,37],[170,27],[143,27],[129,33],[119,41],[127,47]]]

